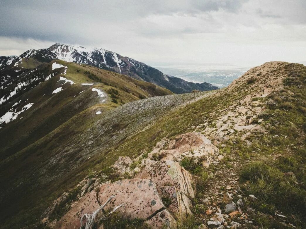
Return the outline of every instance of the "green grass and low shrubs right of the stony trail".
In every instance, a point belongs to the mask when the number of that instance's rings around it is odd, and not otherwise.
[[[254,208],[271,215],[280,211],[298,228],[306,226],[305,79],[306,71],[295,68],[284,80],[285,89],[269,96],[276,105],[259,116],[268,133],[249,136],[256,141],[248,153],[263,157],[247,165],[240,175],[240,181],[247,184],[242,186],[244,192],[258,198],[251,203]],[[275,154],[276,158],[268,156]],[[288,172],[293,176],[284,174]],[[263,228],[284,228],[264,214],[256,222]]]

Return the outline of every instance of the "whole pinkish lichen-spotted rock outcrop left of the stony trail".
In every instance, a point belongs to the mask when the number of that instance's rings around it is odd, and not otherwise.
[[[80,218],[97,210],[111,195],[117,194],[105,210],[124,205],[118,214],[130,220],[142,219],[152,228],[165,225],[176,228],[175,218],[186,218],[192,214],[191,198],[196,189],[192,175],[180,165],[184,157],[203,160],[206,166],[218,160],[218,148],[200,133],[186,133],[174,140],[163,138],[147,155],[134,159],[119,157],[112,165],[118,176],[134,177],[111,183],[104,173],[94,172],[80,182],[77,198],[70,210],[54,226],[48,217],[58,206],[59,200],[46,210],[43,223],[54,228],[79,228]],[[205,158],[205,160],[203,159]],[[121,175],[120,175],[121,174]],[[59,199],[65,199],[63,195]],[[65,204],[65,202],[63,202]]]

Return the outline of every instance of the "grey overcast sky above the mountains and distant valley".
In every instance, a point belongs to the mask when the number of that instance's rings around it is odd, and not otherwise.
[[[2,0],[0,21],[0,56],[64,43],[153,66],[306,63],[305,0]]]

